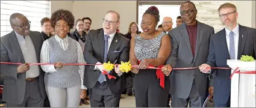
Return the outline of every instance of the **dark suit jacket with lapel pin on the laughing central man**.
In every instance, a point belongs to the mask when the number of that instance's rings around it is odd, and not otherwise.
[[[84,47],[84,60],[87,64],[96,64],[97,62],[103,63],[104,58],[104,31],[103,29],[90,30],[86,38],[86,45]],[[116,33],[113,41],[111,42],[110,49],[108,50],[107,61],[116,64],[120,64],[121,61],[129,61],[130,40],[123,37],[123,35]],[[120,52],[113,52],[120,51]],[[84,86],[87,88],[93,88],[95,86],[99,73],[101,71],[94,70],[95,65],[86,65],[84,72]],[[121,94],[125,90],[125,80],[123,76],[117,76],[113,71],[111,75],[116,79],[107,79],[108,86],[113,94]]]

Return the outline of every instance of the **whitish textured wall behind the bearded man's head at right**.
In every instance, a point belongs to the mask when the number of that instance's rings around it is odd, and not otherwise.
[[[239,17],[237,22],[243,26],[255,28],[255,1],[192,1],[198,9],[197,20],[213,26],[218,32],[224,28],[219,18],[218,8],[225,2],[236,5]],[[246,7],[245,7],[246,5]]]

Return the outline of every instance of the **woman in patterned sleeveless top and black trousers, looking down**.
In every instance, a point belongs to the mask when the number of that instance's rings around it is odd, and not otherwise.
[[[143,32],[131,38],[131,65],[139,64],[138,68],[131,69],[136,74],[136,107],[167,107],[169,74],[162,73],[161,70],[147,69],[149,66],[161,68],[170,55],[169,35],[155,29],[159,17],[157,7],[149,7],[143,14],[140,24]]]

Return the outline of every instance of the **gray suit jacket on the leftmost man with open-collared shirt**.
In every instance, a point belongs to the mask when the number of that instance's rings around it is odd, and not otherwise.
[[[43,36],[40,32],[30,31],[30,38],[36,50],[37,61],[40,62],[40,50],[44,41]],[[14,31],[1,37],[1,62],[25,63]],[[18,65],[1,64],[1,74],[5,76],[3,101],[11,104],[22,104],[25,95],[26,73],[17,73],[17,67]],[[44,73],[40,68],[39,86],[42,97],[45,98],[43,76]]]

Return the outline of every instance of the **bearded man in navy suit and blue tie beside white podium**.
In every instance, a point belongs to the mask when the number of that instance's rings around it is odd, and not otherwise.
[[[210,49],[206,64],[199,69],[202,73],[213,74],[210,67],[228,67],[227,59],[240,59],[249,55],[256,59],[255,29],[237,23],[237,9],[234,4],[225,3],[219,7],[219,17],[225,28],[210,39]],[[230,107],[231,70],[216,70],[214,78],[214,107]]]

